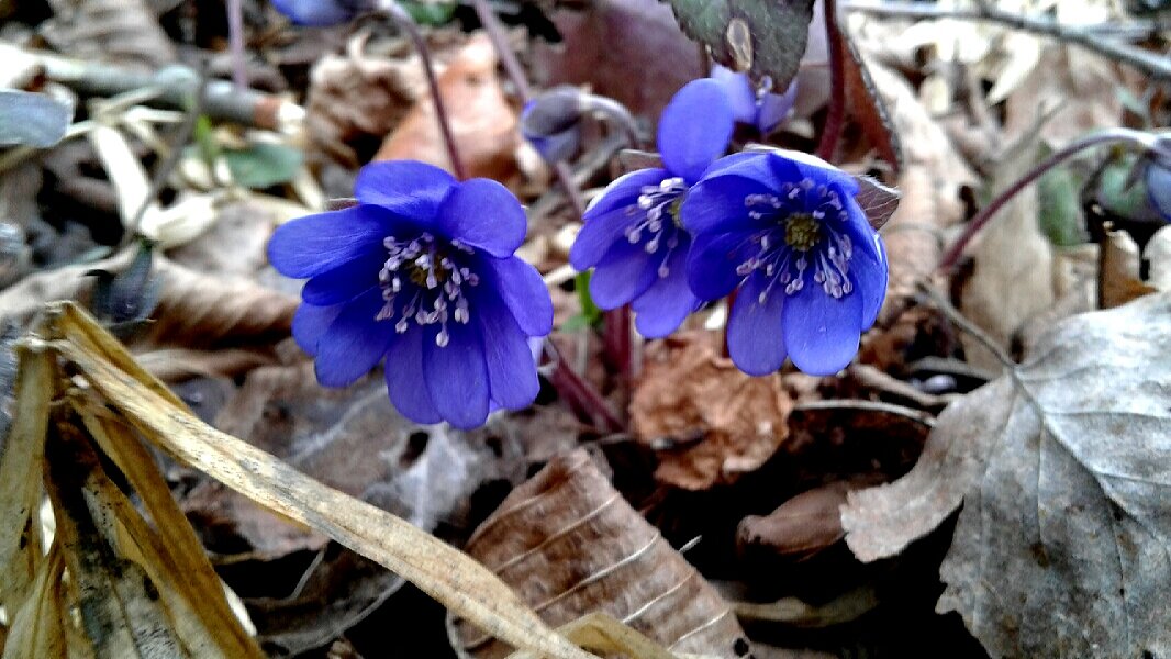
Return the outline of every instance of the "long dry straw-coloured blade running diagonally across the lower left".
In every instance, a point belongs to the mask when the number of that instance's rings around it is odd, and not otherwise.
[[[142,369],[119,368],[132,363],[130,355],[112,337],[102,336],[75,306],[56,307],[49,323],[53,336],[62,339],[55,344],[61,356],[139,431],[178,459],[378,561],[507,643],[555,658],[590,657],[546,626],[500,579],[464,554],[206,426],[176,405],[173,397],[162,396],[163,385]]]

